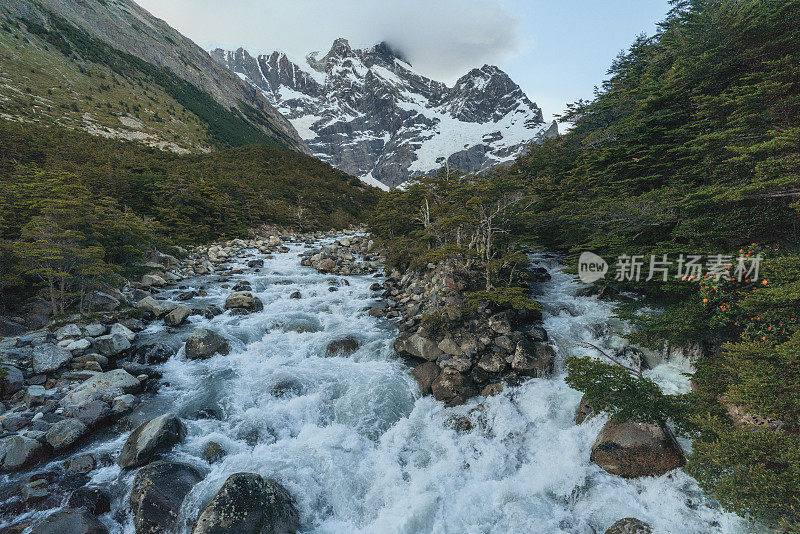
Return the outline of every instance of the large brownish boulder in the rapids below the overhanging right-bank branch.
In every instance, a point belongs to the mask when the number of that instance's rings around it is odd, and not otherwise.
[[[661,476],[686,464],[668,428],[637,421],[608,421],[592,446],[591,460],[623,478]]]

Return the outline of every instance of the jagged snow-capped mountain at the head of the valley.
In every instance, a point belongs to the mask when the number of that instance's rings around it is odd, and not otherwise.
[[[246,50],[211,56],[258,88],[322,160],[375,184],[396,186],[445,165],[484,170],[555,136],[542,110],[506,73],[473,69],[453,87],[421,76],[387,43],[292,60]]]

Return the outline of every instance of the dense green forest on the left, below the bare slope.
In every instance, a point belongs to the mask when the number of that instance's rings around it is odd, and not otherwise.
[[[242,237],[264,224],[346,228],[381,194],[277,146],[177,155],[5,120],[0,189],[0,296],[43,286],[61,302],[148,247]]]

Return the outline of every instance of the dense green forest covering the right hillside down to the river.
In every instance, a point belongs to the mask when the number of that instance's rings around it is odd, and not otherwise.
[[[610,362],[570,359],[571,385],[618,418],[672,421],[688,471],[726,508],[800,528],[800,1],[681,0],[611,66],[572,130],[485,176],[428,178],[381,202],[395,265],[471,261],[508,296],[531,245],[612,264],[645,297],[631,341],[699,345],[694,391],[669,396]],[[621,255],[722,258],[713,276],[614,279]],[[759,276],[734,276],[761,255]],[[646,269],[645,265],[645,269]],[[745,417],[741,417],[741,414]],[[738,414],[738,416],[737,416]]]

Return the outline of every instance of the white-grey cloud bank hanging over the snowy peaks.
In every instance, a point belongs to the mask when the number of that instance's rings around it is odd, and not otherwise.
[[[387,41],[422,73],[452,82],[469,68],[502,63],[520,26],[501,0],[136,0],[201,46],[295,56]]]

